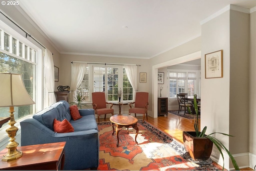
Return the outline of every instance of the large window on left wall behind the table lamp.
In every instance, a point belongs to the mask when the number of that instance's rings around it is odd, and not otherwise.
[[[26,40],[23,36],[12,30],[9,26],[0,21],[0,72],[10,72],[22,75],[22,80],[28,91],[28,94],[37,103],[38,99],[41,99],[41,93],[37,87],[42,76],[38,74],[38,70],[41,70],[41,65],[35,63],[38,60],[38,54],[42,54],[40,48]],[[6,32],[10,31],[10,32]],[[15,35],[15,36],[14,36]],[[21,43],[22,41],[23,43]],[[3,45],[3,46],[2,46]],[[22,55],[26,47],[30,47],[30,53],[27,54],[26,58]],[[40,105],[38,105],[40,106]],[[8,117],[9,107],[0,107],[0,113],[4,117]],[[30,115],[38,111],[36,105],[27,106],[14,106],[14,118],[17,121],[26,115]],[[5,123],[4,125],[6,125]],[[2,127],[3,129],[3,127]]]

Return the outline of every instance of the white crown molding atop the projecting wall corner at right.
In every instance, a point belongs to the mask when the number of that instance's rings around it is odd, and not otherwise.
[[[221,14],[223,14],[224,12],[227,12],[229,10],[234,10],[234,11],[238,11],[238,12],[244,12],[244,13],[247,13],[247,14],[250,14],[250,9],[247,9],[247,8],[242,8],[242,7],[239,7],[239,6],[235,6],[235,5],[232,5],[232,4],[229,4],[228,6],[222,8],[221,10],[215,12],[214,14],[212,14],[211,16],[207,17],[206,19],[202,20],[200,22],[200,24],[205,24],[206,22],[216,18],[217,16],[220,16]]]

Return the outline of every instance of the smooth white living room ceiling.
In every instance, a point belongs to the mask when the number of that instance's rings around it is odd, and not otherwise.
[[[202,20],[256,0],[20,0],[61,54],[152,58],[201,34]],[[32,35],[33,36],[33,35]]]

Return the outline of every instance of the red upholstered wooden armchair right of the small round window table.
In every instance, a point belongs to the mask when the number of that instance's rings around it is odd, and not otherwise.
[[[134,104],[134,107],[132,107],[132,104]],[[131,113],[134,113],[136,117],[136,113],[142,114],[143,122],[144,122],[145,114],[146,114],[148,119],[148,92],[137,92],[135,97],[135,102],[132,102],[129,105],[130,105],[129,115]]]

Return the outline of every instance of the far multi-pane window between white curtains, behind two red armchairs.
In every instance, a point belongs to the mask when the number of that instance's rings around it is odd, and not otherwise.
[[[121,71],[121,72],[120,72]],[[122,66],[97,66],[88,64],[82,84],[77,93],[86,95],[86,101],[91,101],[91,93],[105,92],[107,101],[118,101],[118,89],[122,89],[122,100],[132,101],[133,89]]]

